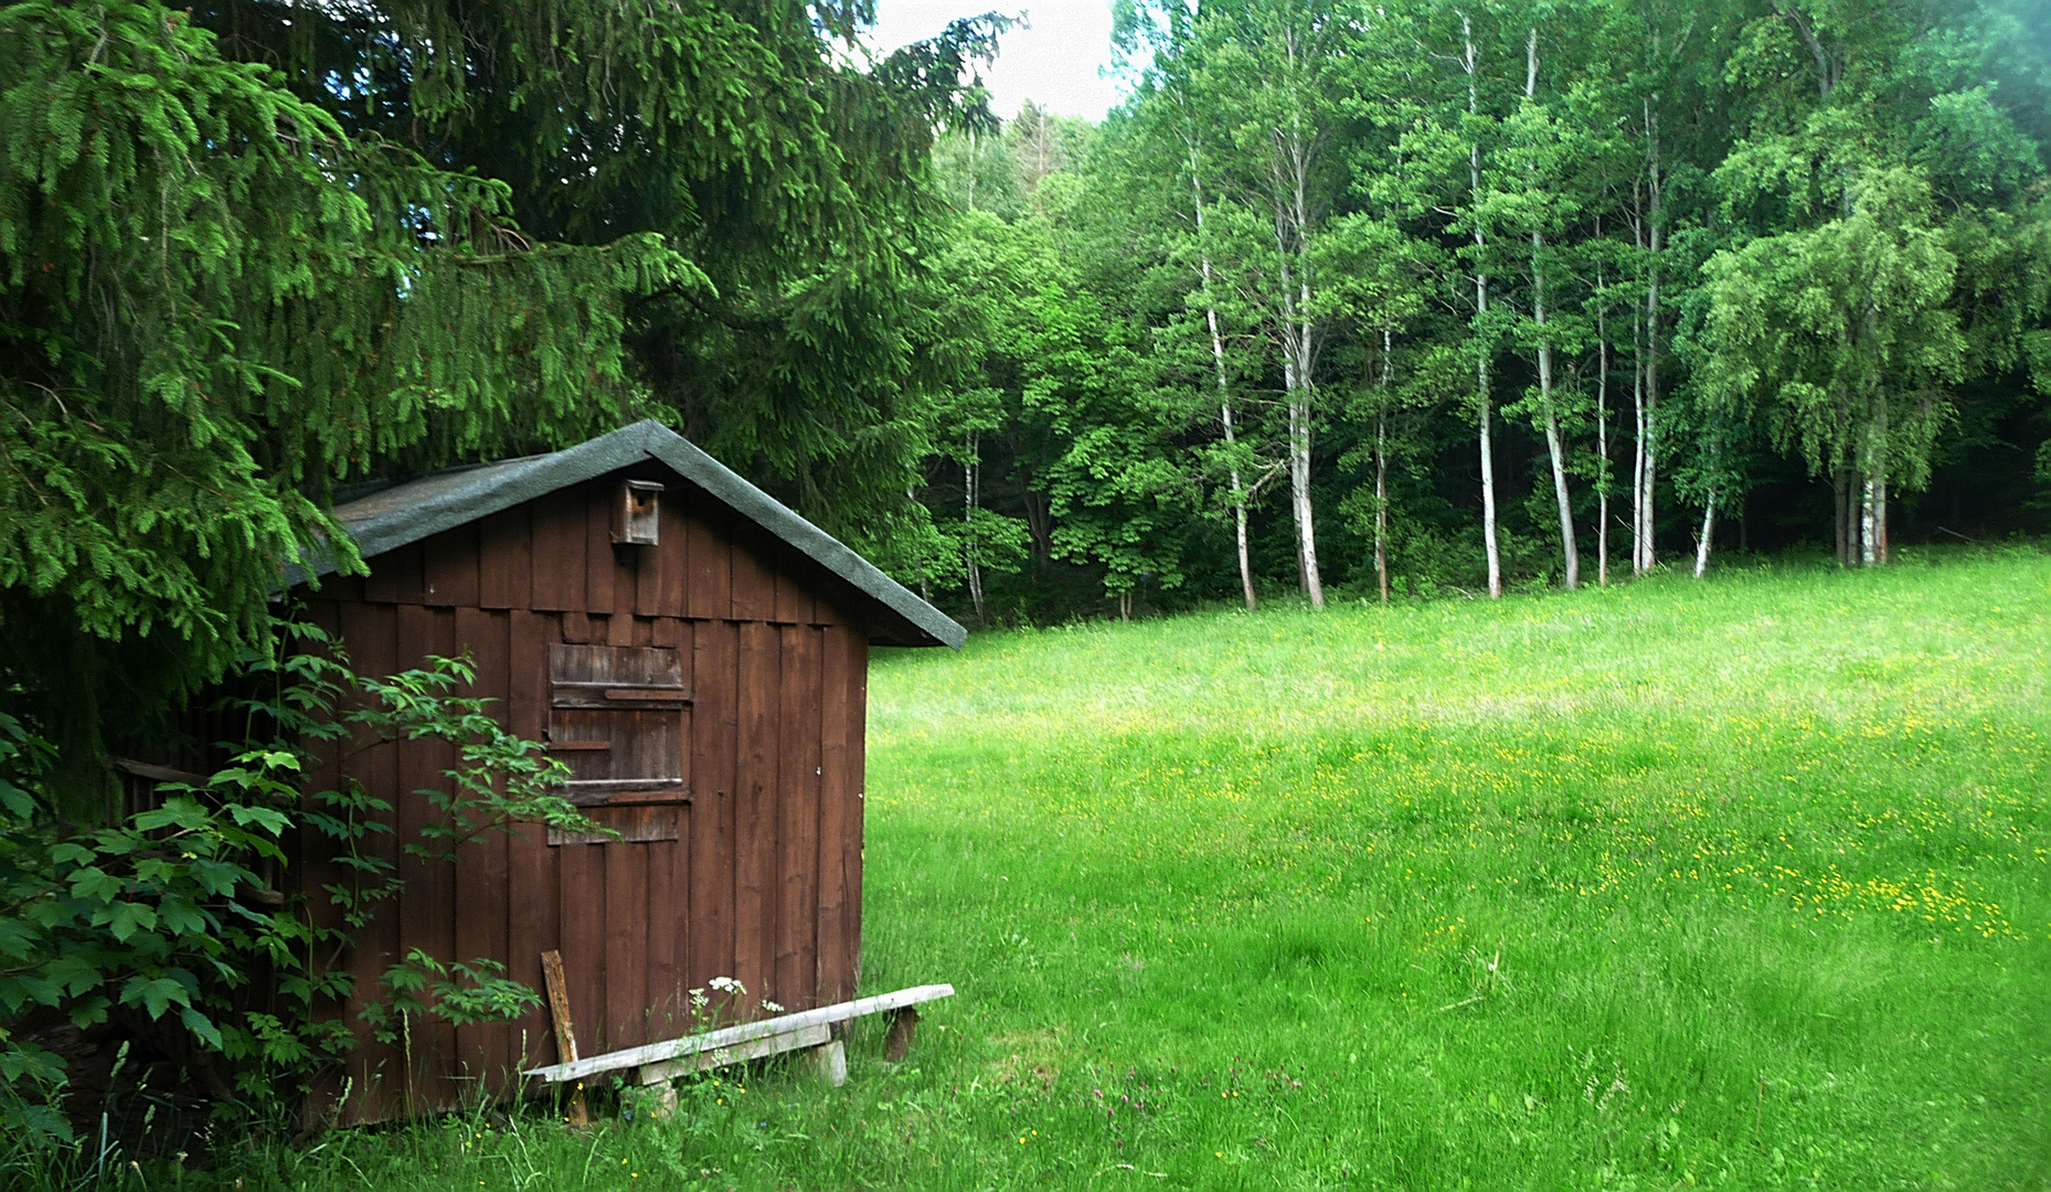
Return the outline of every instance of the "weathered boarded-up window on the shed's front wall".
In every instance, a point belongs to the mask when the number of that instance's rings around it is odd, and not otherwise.
[[[691,689],[679,650],[552,644],[548,681],[548,747],[570,767],[570,802],[675,800],[689,790]]]

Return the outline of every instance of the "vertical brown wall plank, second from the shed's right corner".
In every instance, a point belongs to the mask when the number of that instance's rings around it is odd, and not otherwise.
[[[775,999],[814,1005],[818,977],[818,687],[812,626],[779,628]]]

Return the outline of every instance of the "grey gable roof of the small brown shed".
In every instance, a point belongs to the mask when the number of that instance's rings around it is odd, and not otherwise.
[[[423,538],[455,529],[457,525],[490,517],[500,509],[523,505],[537,496],[595,480],[607,472],[617,472],[656,460],[691,484],[697,484],[714,501],[720,501],[740,517],[761,525],[775,538],[794,546],[812,562],[851,583],[859,593],[880,603],[888,613],[888,624],[878,626],[878,640],[902,646],[954,646],[962,648],[968,630],[948,613],[913,595],[904,585],[876,570],[876,566],[843,546],[825,529],[798,517],[788,505],[769,496],[761,488],[736,476],[730,468],[699,451],[689,439],[671,431],[662,423],[648,419],[599,435],[589,443],[578,443],[548,455],[527,455],[502,460],[476,468],[451,468],[420,480],[406,480],[379,488],[357,501],[334,507],[334,517],[349,527],[363,558],[410,546]],[[289,581],[308,574],[328,574],[334,560],[308,564]]]

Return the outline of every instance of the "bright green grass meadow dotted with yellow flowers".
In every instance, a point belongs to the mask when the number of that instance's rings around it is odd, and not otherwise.
[[[882,652],[909,1061],[248,1186],[2051,1188],[2051,558],[1905,554]]]

